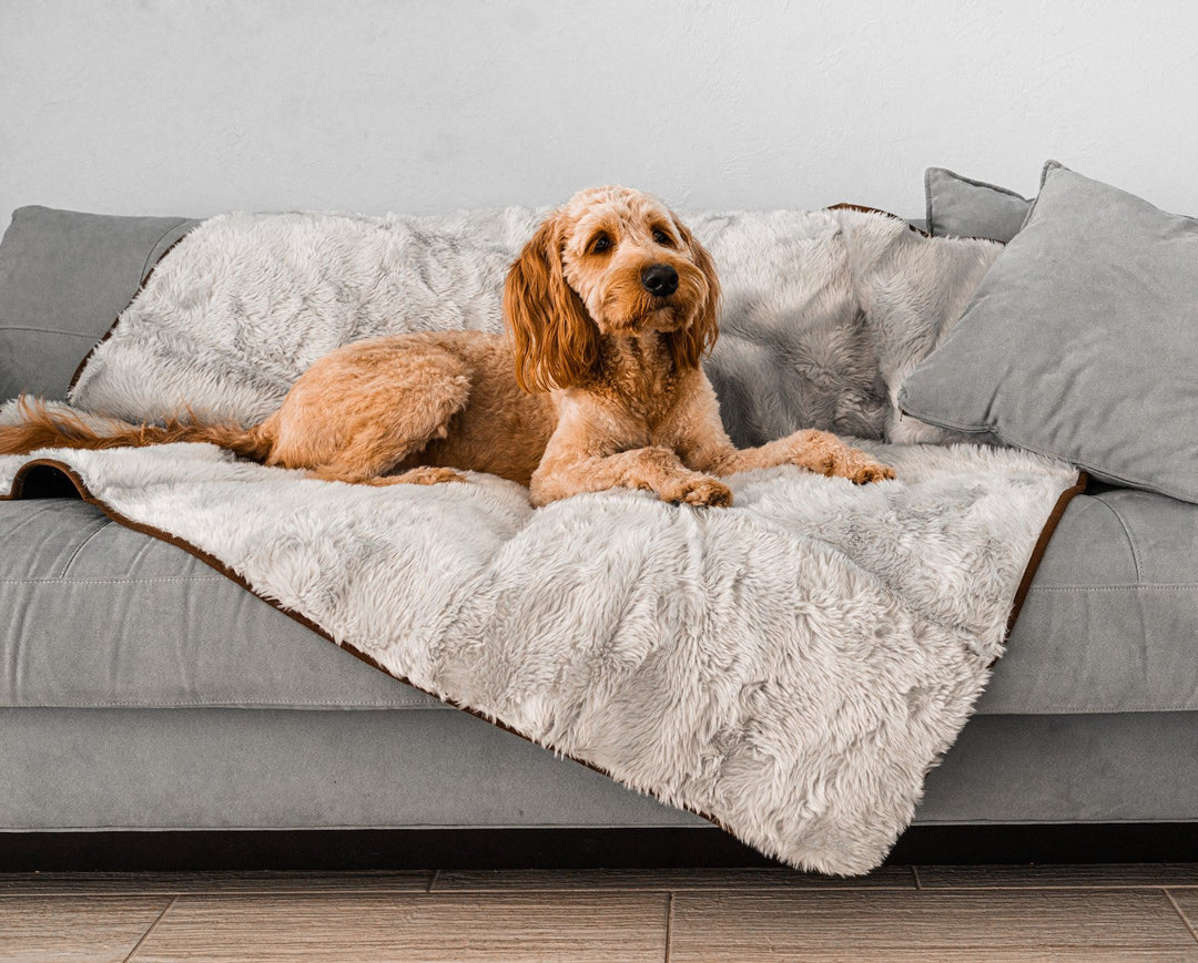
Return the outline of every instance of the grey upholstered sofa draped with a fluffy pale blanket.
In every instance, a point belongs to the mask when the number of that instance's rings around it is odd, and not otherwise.
[[[0,398],[62,398],[194,224],[22,208]],[[0,834],[695,828],[351,658],[53,471],[0,501]],[[1198,506],[1069,505],[916,825],[1198,821]],[[0,868],[4,868],[0,847]]]

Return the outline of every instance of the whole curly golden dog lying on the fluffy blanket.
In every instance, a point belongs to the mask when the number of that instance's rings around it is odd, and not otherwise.
[[[364,484],[489,471],[536,505],[613,487],[731,505],[720,476],[795,464],[864,483],[890,468],[821,431],[738,450],[700,361],[715,343],[710,255],[660,202],[621,187],[575,195],[537,231],[503,291],[509,336],[401,334],[314,364],[260,425],[111,426],[23,400],[0,451],[211,441],[270,465]]]

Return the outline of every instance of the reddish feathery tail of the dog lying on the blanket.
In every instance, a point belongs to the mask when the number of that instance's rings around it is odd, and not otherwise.
[[[271,453],[272,438],[262,425],[242,428],[180,419],[168,419],[165,425],[131,425],[117,419],[52,410],[41,398],[28,395],[17,400],[17,412],[18,423],[0,425],[0,455],[29,455],[37,449],[144,447],[171,441],[210,441],[255,462]]]

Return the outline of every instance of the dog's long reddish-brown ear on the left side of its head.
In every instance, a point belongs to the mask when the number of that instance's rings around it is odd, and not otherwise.
[[[599,360],[599,329],[562,274],[563,240],[563,219],[551,217],[525,245],[503,285],[516,384],[530,392],[585,384]]]

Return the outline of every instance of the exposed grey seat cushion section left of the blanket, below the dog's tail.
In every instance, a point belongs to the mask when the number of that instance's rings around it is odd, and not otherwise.
[[[0,706],[442,708],[78,499],[0,501]]]

